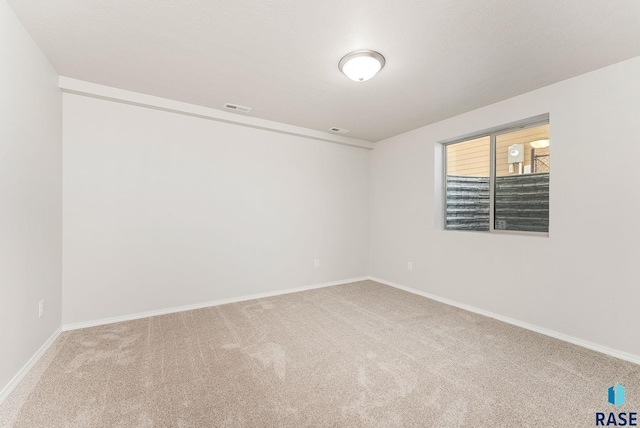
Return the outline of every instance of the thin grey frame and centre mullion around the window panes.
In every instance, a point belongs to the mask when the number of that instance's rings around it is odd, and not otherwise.
[[[505,125],[495,126],[492,128],[484,129],[482,131],[472,132],[455,138],[439,141],[442,146],[442,208],[443,208],[443,229],[447,232],[478,232],[488,234],[502,234],[502,235],[524,235],[524,236],[543,236],[549,237],[549,232],[531,232],[525,230],[503,230],[495,228],[495,185],[496,185],[496,137],[503,134],[508,134],[514,131],[520,131],[527,128],[535,128],[542,125],[550,125],[549,114],[541,114],[533,116],[527,119],[518,120]],[[549,133],[551,133],[551,127],[549,127]],[[476,138],[489,137],[489,230],[456,230],[447,229],[447,146],[451,146],[458,143],[464,143],[465,141],[473,140]],[[551,136],[549,136],[551,139]],[[549,149],[551,153],[551,149]],[[551,174],[549,174],[549,198],[551,198]],[[551,201],[549,201],[551,202]],[[551,220],[551,209],[549,209],[549,220]],[[551,229],[551,222],[549,222],[549,230]]]

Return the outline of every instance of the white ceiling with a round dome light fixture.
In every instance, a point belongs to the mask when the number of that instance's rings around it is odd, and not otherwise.
[[[638,0],[8,3],[60,75],[368,141],[640,55]]]

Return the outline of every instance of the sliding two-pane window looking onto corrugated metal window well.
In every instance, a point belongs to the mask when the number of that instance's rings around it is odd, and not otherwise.
[[[549,232],[549,119],[445,142],[445,229]]]

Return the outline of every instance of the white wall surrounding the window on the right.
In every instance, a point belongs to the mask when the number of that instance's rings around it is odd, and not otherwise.
[[[442,230],[437,142],[542,113],[549,237]],[[640,356],[639,163],[640,58],[378,143],[371,274]]]

